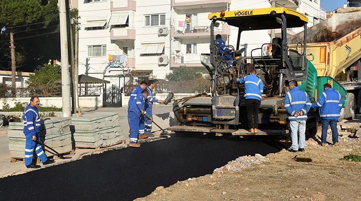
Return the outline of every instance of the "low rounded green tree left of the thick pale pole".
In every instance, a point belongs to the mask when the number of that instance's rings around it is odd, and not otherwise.
[[[42,96],[61,94],[61,66],[44,64],[35,70],[26,81],[28,88]]]

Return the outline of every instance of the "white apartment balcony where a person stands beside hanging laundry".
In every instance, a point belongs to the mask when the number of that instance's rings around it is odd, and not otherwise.
[[[211,23],[210,23],[211,24]],[[210,36],[210,24],[186,24],[186,28],[174,26],[170,28],[170,36],[175,38],[200,38]],[[227,24],[220,24],[215,27],[215,33],[230,35],[231,27]]]

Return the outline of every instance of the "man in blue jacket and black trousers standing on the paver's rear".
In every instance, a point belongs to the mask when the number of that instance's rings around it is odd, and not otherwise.
[[[262,101],[263,81],[257,77],[256,70],[251,69],[249,75],[239,77],[237,82],[245,84],[244,97],[246,98],[248,127],[251,133],[257,133],[258,110]]]

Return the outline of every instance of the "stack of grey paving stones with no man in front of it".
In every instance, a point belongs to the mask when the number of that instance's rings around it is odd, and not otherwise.
[[[97,148],[125,139],[117,113],[95,112],[72,117],[71,130],[76,147]]]

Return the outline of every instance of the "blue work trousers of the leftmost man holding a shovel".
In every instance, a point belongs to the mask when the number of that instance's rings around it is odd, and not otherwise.
[[[37,137],[37,140],[40,140],[39,137],[40,133],[37,133],[35,136]],[[46,157],[41,145],[32,140],[33,134],[32,133],[25,133],[25,136],[27,138],[26,144],[25,144],[25,165],[30,165],[33,163],[33,152],[35,149],[35,153],[38,155],[41,162],[45,162],[48,160]]]

